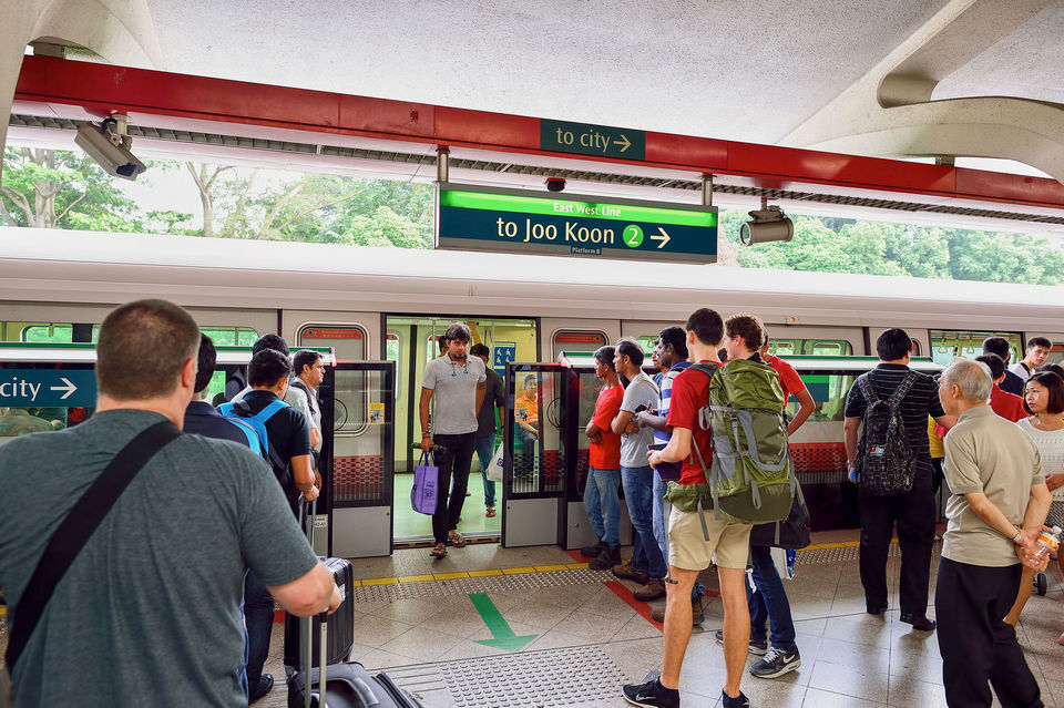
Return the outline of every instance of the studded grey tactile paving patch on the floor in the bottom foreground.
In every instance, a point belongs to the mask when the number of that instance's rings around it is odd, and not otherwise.
[[[456,708],[577,706],[616,699],[627,679],[597,645],[522,651],[446,664],[388,669],[399,686],[436,688],[434,668]]]

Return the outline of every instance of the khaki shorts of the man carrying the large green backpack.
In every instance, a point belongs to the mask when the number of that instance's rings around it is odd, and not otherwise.
[[[702,532],[698,512],[682,512],[675,506],[668,515],[668,563],[685,571],[709,567],[714,556],[723,568],[746,570],[750,554],[750,524],[715,519],[713,510],[702,512],[709,541]]]

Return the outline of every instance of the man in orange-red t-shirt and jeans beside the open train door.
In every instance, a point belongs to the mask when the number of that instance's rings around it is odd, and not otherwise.
[[[621,435],[613,432],[611,423],[621,411],[624,388],[614,368],[613,347],[600,347],[594,353],[595,376],[605,384],[595,401],[595,413],[584,434],[591,440],[587,455],[587,483],[584,486],[584,510],[598,543],[585,546],[580,552],[591,558],[587,567],[605,571],[621,565]]]

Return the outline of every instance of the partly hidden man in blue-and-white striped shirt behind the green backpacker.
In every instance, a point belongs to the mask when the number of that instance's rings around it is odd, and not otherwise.
[[[658,363],[662,369],[667,371],[662,376],[659,387],[662,390],[662,402],[657,411],[643,411],[636,414],[636,423],[641,428],[652,428],[654,430],[655,443],[668,443],[673,433],[665,425],[668,418],[669,400],[673,396],[673,381],[679,376],[679,372],[690,366],[687,361],[687,332],[683,327],[666,327],[658,335],[661,339],[658,349]],[[668,552],[665,545],[665,514],[662,500],[665,496],[666,482],[662,481],[662,475],[657,470],[654,471],[654,538],[657,541],[662,555],[668,558]],[[706,586],[697,579],[690,591],[690,609],[693,624],[700,625],[705,619],[702,610],[702,598],[706,594]],[[657,622],[665,620],[665,608],[654,609],[651,616]]]

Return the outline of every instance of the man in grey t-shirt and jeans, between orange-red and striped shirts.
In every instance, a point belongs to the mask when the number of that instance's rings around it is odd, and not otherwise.
[[[628,379],[621,400],[621,411],[613,419],[613,432],[621,435],[621,484],[632,519],[632,563],[615,565],[617,577],[642,583],[646,587],[633,596],[643,602],[665,596],[668,568],[654,537],[654,470],[646,461],[646,447],[654,442],[654,431],[640,428],[632,418],[659,404],[659,391],[643,371],[643,347],[633,339],[617,342],[614,365],[617,373]]]

